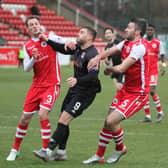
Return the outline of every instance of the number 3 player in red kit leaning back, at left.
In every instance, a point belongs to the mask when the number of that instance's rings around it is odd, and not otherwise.
[[[56,51],[42,38],[39,38],[41,32],[40,19],[37,16],[30,16],[26,20],[26,25],[32,38],[24,44],[24,70],[28,72],[33,69],[34,77],[26,96],[14,145],[7,157],[8,161],[15,160],[19,155],[21,142],[27,133],[30,120],[36,112],[38,112],[41,124],[43,141],[41,150],[47,148],[51,135],[48,115],[60,92],[61,74],[58,57]],[[65,43],[65,39],[56,35],[51,36],[50,39],[58,43]]]

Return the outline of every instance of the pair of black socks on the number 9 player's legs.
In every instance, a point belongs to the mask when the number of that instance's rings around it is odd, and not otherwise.
[[[59,149],[65,149],[68,136],[69,127],[62,123],[58,123],[57,128],[54,131],[52,138],[48,144],[48,148],[54,150],[57,144],[59,144]]]

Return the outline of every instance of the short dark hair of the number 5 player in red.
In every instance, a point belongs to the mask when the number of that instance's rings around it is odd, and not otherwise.
[[[140,35],[141,37],[143,37],[146,32],[146,27],[147,27],[146,20],[144,18],[133,18],[131,19],[131,22],[135,23],[136,30],[141,30]]]

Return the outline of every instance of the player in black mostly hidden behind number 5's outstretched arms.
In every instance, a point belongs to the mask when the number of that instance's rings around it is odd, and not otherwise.
[[[114,38],[114,31],[112,28],[109,28],[109,27],[105,28],[104,37],[108,42],[105,47],[105,50],[119,43],[119,41]],[[108,66],[115,66],[115,65],[121,64],[121,54],[119,53],[106,58],[105,63]],[[124,74],[112,73],[111,78],[113,79],[115,89],[118,92],[123,86]]]

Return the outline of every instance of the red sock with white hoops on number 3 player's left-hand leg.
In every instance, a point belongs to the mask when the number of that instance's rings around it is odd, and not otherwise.
[[[19,123],[19,125],[16,129],[15,143],[13,145],[13,149],[16,149],[17,151],[19,151],[22,140],[27,133],[27,129],[28,129],[28,124],[27,125],[21,125]]]

